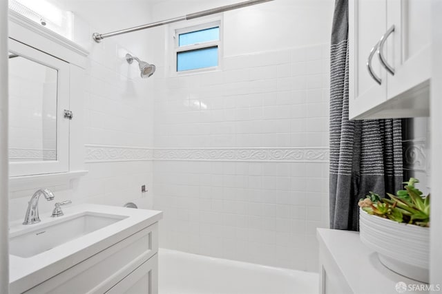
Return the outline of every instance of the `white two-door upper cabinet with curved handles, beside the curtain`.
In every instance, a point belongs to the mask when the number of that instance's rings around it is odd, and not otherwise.
[[[349,1],[349,118],[429,115],[431,1]]]

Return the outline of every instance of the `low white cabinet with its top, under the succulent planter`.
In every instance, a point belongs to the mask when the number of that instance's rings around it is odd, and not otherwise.
[[[320,294],[403,293],[397,288],[403,283],[407,286],[406,293],[428,293],[420,291],[426,284],[383,266],[377,253],[361,242],[358,232],[317,229],[316,237]]]

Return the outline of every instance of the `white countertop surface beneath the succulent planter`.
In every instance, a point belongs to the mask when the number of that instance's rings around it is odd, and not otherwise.
[[[420,291],[419,287],[425,289],[431,285],[410,280],[383,266],[376,252],[359,240],[358,232],[317,229],[316,235],[320,251],[327,255],[327,260],[332,260],[332,267],[340,271],[338,276],[345,279],[347,284],[345,287],[349,288],[349,293],[403,293],[396,291],[396,284],[399,282],[405,283],[407,287],[410,287],[410,290],[412,288],[418,290],[406,291],[406,293],[428,293],[427,291]],[[323,264],[323,266],[325,265]]]

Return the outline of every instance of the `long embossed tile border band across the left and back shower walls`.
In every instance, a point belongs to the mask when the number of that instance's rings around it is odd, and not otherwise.
[[[86,145],[86,162],[144,160],[328,162],[327,147],[142,148]]]

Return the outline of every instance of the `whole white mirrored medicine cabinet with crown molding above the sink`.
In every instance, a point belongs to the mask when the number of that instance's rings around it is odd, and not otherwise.
[[[88,51],[13,10],[8,19],[10,179],[80,171]]]

